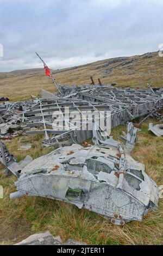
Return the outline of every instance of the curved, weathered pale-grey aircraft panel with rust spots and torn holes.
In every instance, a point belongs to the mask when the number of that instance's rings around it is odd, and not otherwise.
[[[41,196],[74,204],[119,225],[141,221],[149,209],[157,209],[158,187],[145,173],[143,164],[126,154],[123,186],[117,188],[117,153],[117,148],[83,148],[78,144],[59,148],[22,170],[15,183],[17,191],[20,196]]]

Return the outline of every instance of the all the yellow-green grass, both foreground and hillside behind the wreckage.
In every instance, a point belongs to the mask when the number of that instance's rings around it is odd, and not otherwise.
[[[127,60],[133,57],[128,57]],[[147,83],[160,87],[163,81],[163,58],[158,53],[153,53],[153,58],[136,56],[136,62],[115,68],[110,74],[103,77],[104,68],[97,66],[108,62],[91,63],[77,67],[54,71],[55,77],[61,84],[89,84],[90,76],[101,78],[102,82],[117,82],[117,86],[146,87]],[[116,64],[109,66],[113,67]],[[29,74],[9,77],[0,74],[0,97],[7,96],[11,101],[26,100],[30,94],[39,94],[40,89],[54,92],[51,78],[43,72],[31,72]],[[162,113],[163,114],[163,113]],[[145,164],[146,173],[158,184],[163,184],[163,138],[158,138],[148,131],[149,122],[146,120],[141,125],[138,133],[138,141],[131,153],[135,160]],[[112,130],[112,135],[118,139],[126,126],[118,126]],[[32,143],[32,148],[27,151],[18,151],[19,140]],[[35,159],[52,149],[42,150],[43,136],[15,137],[7,143],[10,153],[21,161],[27,154]],[[162,239],[162,199],[159,200],[157,212],[148,212],[142,222],[131,222],[124,227],[111,224],[103,216],[89,210],[79,210],[76,206],[56,200],[39,197],[22,197],[9,199],[9,194],[16,191],[14,175],[5,176],[4,167],[0,165],[0,185],[4,188],[4,198],[0,199],[0,245],[11,245],[25,239],[34,233],[51,231],[54,236],[60,235],[63,241],[67,239],[79,240],[87,245],[161,245]]]

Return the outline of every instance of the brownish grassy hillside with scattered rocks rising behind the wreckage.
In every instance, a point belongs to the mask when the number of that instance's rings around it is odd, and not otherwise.
[[[45,76],[41,68],[42,63],[40,69],[0,72],[0,97],[7,96],[11,101],[16,101],[29,99],[30,94],[37,95],[40,89],[54,92],[51,78]],[[93,76],[95,83],[101,78],[103,83],[116,82],[118,87],[146,87],[147,83],[160,87],[163,85],[162,71],[163,58],[159,57],[158,52],[153,52],[53,70],[53,74],[61,85],[90,84],[90,76]]]

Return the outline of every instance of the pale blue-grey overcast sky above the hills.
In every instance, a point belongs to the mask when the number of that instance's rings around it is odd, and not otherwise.
[[[163,0],[0,0],[0,71],[158,51]]]

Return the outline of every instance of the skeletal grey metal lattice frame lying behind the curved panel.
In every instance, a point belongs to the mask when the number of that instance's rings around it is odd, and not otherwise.
[[[43,145],[45,147],[56,144],[81,143],[92,138],[92,131],[82,130],[82,125],[80,130],[71,125],[70,130],[66,131],[66,124],[60,129],[58,127],[52,129],[54,112],[60,112],[63,119],[66,120],[65,110],[69,108],[71,112],[73,111],[71,123],[73,123],[76,113],[80,113],[79,120],[82,120],[83,113],[86,111],[110,112],[112,129],[137,117],[149,115],[149,112],[154,116],[154,113],[155,115],[158,113],[156,109],[159,111],[163,106],[161,94],[153,93],[150,89],[120,89],[105,84],[103,86],[62,86],[60,91],[62,91],[63,97],[60,93],[52,94],[43,91],[42,99],[39,99],[37,104],[30,107],[28,111],[23,112],[23,120],[29,127],[26,135],[44,134]],[[159,113],[157,115],[158,118],[162,117]],[[76,121],[78,120],[76,119]],[[87,122],[89,123],[89,120]]]

